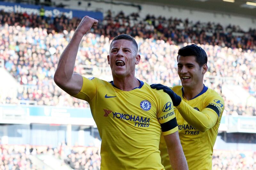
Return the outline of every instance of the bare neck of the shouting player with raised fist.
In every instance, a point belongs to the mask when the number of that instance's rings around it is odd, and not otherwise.
[[[125,78],[116,78],[113,77],[113,82],[116,87],[123,91],[131,91],[135,87],[140,86],[140,81],[133,77],[125,77]]]

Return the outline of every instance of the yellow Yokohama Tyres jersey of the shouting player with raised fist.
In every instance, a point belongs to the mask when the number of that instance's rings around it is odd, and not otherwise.
[[[89,102],[101,142],[101,170],[164,169],[160,135],[178,131],[169,95],[140,81],[131,91],[112,82],[84,78],[74,97]],[[162,131],[161,131],[162,129]]]

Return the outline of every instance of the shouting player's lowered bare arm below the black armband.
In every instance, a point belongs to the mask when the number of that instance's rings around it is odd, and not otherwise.
[[[167,145],[167,151],[169,154],[170,163],[172,168],[178,170],[188,169],[187,160],[185,158],[182,146],[180,144],[180,138],[178,131],[164,136],[165,143]]]

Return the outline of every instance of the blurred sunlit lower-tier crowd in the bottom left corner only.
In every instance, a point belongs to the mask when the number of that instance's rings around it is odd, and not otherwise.
[[[59,158],[60,148],[31,145],[0,145],[0,170],[41,170],[35,166],[29,155],[50,154]],[[75,170],[100,170],[100,149],[98,147],[74,146],[71,153],[62,158]]]

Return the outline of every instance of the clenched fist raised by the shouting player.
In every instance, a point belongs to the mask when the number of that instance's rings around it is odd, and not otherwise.
[[[98,22],[99,21],[97,19],[85,16],[77,26],[76,31],[86,34],[91,29],[91,27],[96,26]]]

